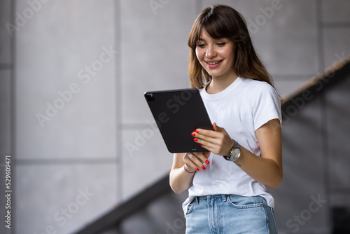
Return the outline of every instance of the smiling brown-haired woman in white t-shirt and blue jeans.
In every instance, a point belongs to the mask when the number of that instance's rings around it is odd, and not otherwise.
[[[189,192],[186,233],[276,233],[266,187],[277,188],[283,176],[281,104],[246,23],[229,6],[206,8],[188,46],[191,85],[214,131],[191,133],[208,153],[174,154],[170,186]]]

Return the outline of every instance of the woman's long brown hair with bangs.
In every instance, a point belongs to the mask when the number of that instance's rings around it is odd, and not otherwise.
[[[203,88],[205,83],[211,81],[211,76],[197,60],[195,53],[202,29],[205,29],[209,36],[214,39],[225,37],[235,43],[235,62],[232,65],[235,67],[238,76],[266,81],[274,86],[271,76],[255,53],[243,16],[230,6],[218,4],[205,8],[197,16],[190,31],[188,38],[188,46],[190,46],[188,73],[193,88]]]

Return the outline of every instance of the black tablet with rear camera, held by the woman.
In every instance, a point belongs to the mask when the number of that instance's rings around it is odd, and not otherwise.
[[[197,128],[214,130],[197,89],[145,92],[144,96],[170,153],[207,152],[191,135]]]

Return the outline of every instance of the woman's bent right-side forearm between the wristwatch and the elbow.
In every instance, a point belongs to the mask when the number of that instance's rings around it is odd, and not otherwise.
[[[241,156],[235,162],[241,170],[255,179],[256,181],[268,186],[277,188],[283,178],[283,168],[270,158],[258,157],[244,147],[241,148]]]

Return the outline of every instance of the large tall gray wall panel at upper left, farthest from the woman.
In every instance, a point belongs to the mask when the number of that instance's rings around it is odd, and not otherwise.
[[[113,1],[98,3],[48,1],[18,32],[18,158],[116,156]]]

